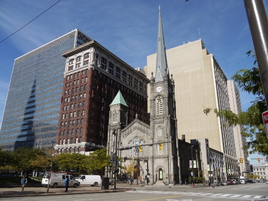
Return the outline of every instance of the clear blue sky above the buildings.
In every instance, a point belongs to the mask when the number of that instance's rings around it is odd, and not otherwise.
[[[0,0],[0,41],[56,2]],[[200,29],[228,79],[253,67],[246,55],[253,44],[243,0],[61,0],[0,43],[0,121],[16,58],[78,28],[131,66],[143,68],[156,52],[159,5],[167,49],[198,40]],[[254,97],[241,90],[240,96],[246,110]]]

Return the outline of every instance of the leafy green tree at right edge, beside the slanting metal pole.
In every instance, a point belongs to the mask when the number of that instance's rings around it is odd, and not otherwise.
[[[253,53],[255,58],[254,65],[256,65],[256,55],[254,50],[247,52],[247,55]],[[249,138],[247,145],[243,147],[245,150],[249,150],[249,153],[258,153],[264,156],[268,155],[268,139],[265,132],[265,127],[262,120],[262,113],[267,110],[267,104],[263,92],[263,86],[259,73],[258,66],[254,66],[252,69],[242,69],[236,72],[232,78],[242,91],[246,91],[249,94],[253,94],[256,99],[252,101],[252,105],[240,114],[234,114],[230,109],[214,109],[217,117],[224,117],[229,125],[224,126],[236,126],[244,125],[245,132],[243,136]],[[204,113],[208,115],[211,112],[211,108],[205,108]]]

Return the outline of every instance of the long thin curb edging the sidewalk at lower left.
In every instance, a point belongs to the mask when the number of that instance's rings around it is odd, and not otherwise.
[[[48,193],[48,194],[38,194],[38,195],[0,195],[0,198],[15,198],[15,197],[38,197],[38,196],[56,196],[56,195],[76,195],[76,194],[92,194],[92,193],[117,193],[117,192],[124,192],[124,191],[134,191],[136,189],[130,189],[130,190],[109,190],[109,191],[95,191],[95,192],[83,192],[83,191],[78,191],[78,192],[70,192],[70,193]]]

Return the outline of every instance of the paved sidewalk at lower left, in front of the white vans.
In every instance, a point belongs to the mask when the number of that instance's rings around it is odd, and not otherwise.
[[[133,186],[134,187],[134,186]],[[10,198],[10,197],[34,197],[34,196],[53,196],[53,195],[67,195],[67,194],[86,194],[86,193],[111,193],[111,192],[122,192],[134,190],[133,187],[116,185],[116,190],[114,186],[109,186],[109,190],[101,190],[101,186],[78,186],[77,188],[70,187],[68,192],[65,192],[64,187],[49,188],[47,193],[46,187],[35,187],[35,186],[25,186],[24,191],[21,191],[21,186],[6,186],[0,187],[0,198]]]

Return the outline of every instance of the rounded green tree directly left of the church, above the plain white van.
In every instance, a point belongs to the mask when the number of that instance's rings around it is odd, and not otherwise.
[[[90,154],[89,169],[95,171],[96,174],[103,176],[105,167],[111,165],[110,156],[107,155],[107,149],[97,149]]]

